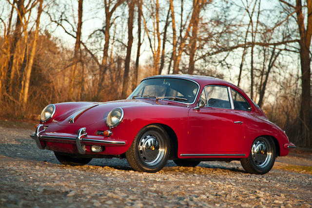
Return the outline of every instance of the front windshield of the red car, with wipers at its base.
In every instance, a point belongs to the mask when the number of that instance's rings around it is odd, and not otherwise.
[[[151,97],[192,104],[198,91],[198,85],[191,80],[157,77],[143,80],[129,95],[131,98]]]

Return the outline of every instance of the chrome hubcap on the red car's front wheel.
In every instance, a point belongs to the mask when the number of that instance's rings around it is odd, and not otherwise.
[[[146,165],[156,165],[164,156],[164,144],[155,136],[144,134],[138,143],[138,153]]]

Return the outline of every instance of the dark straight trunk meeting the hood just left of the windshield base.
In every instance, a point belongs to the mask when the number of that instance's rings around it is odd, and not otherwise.
[[[129,17],[128,17],[128,45],[127,45],[127,55],[125,59],[125,71],[123,73],[123,83],[122,83],[122,93],[121,98],[125,99],[127,97],[128,92],[128,83],[129,83],[129,68],[130,68],[130,61],[131,61],[131,49],[132,49],[132,42],[133,42],[133,18],[134,18],[134,8],[135,8],[135,0],[130,0],[128,2],[129,7]]]

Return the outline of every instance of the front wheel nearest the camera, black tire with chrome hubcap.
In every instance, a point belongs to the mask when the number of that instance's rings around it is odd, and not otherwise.
[[[138,133],[126,158],[129,165],[140,172],[157,172],[167,163],[170,153],[170,140],[160,126],[144,127]]]

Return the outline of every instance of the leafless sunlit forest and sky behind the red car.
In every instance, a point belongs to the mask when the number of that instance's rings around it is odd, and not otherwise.
[[[206,75],[312,147],[311,13],[312,0],[0,0],[0,117],[123,99],[146,76]]]

